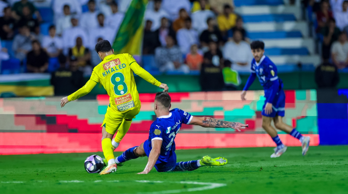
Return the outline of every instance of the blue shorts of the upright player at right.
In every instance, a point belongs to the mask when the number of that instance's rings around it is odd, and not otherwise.
[[[265,96],[268,96],[267,92],[265,91]],[[268,116],[268,117],[276,117],[278,116],[284,116],[285,115],[285,93],[284,90],[281,89],[279,90],[279,92],[277,93],[277,95],[274,97],[273,102],[272,102],[272,113],[270,114],[266,114],[264,112],[264,108],[266,106],[268,99],[266,97],[266,100],[264,102],[264,105],[262,107],[262,115],[263,116]]]

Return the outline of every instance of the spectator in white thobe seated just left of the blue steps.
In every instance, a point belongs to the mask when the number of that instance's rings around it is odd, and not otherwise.
[[[232,62],[232,69],[238,72],[250,72],[251,53],[250,45],[242,40],[243,34],[240,30],[233,32],[232,41],[228,41],[223,49],[223,56]]]

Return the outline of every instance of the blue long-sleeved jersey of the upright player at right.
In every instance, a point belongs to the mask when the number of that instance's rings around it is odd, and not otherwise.
[[[255,59],[253,59],[251,72],[256,73],[265,92],[272,87],[272,81],[275,80],[279,80],[280,88],[282,88],[282,81],[278,79],[277,66],[268,57],[263,55],[259,63],[256,63]]]

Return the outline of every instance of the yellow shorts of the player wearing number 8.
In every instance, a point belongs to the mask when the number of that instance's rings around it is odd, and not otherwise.
[[[105,127],[106,132],[110,134],[115,134],[116,130],[119,129],[123,119],[132,120],[135,116],[140,112],[140,103],[136,103],[136,106],[129,111],[118,112],[112,110],[110,107],[107,107],[103,125],[101,127]]]

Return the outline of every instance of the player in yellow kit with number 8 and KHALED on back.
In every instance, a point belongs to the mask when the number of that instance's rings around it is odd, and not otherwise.
[[[140,111],[140,100],[135,84],[133,72],[142,79],[168,91],[165,83],[157,81],[149,72],[138,65],[130,54],[114,54],[111,44],[107,40],[98,42],[95,46],[102,62],[95,66],[92,75],[86,85],[68,97],[61,99],[61,107],[72,100],[88,94],[93,87],[100,82],[110,97],[103,121],[102,148],[108,166],[99,174],[116,172],[117,165],[113,150],[115,150],[122,138],[130,128],[132,119]],[[118,130],[115,138],[113,138]]]

